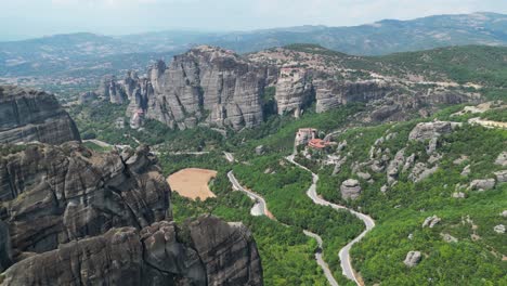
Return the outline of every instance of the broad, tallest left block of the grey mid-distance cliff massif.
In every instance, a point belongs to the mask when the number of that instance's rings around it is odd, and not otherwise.
[[[253,127],[263,120],[261,94],[270,73],[231,51],[198,47],[174,56],[169,66],[153,66],[146,81],[153,93],[141,92],[145,106],[134,103],[130,109],[142,109],[170,128],[193,128],[197,121],[236,130]],[[128,84],[132,89],[130,79]],[[136,99],[134,92],[131,96]]]

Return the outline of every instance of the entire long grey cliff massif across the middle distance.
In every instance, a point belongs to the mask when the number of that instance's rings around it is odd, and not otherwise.
[[[385,65],[369,61],[315,47],[240,56],[202,46],[174,56],[168,65],[157,62],[145,78],[129,72],[121,81],[105,80],[101,90],[110,102],[130,100],[127,116],[133,128],[151,118],[170,128],[205,125],[239,130],[259,125],[273,113],[299,117],[307,108],[323,113],[349,103],[368,106],[366,121],[402,120],[419,110],[429,114],[441,104],[480,101],[477,93],[467,91],[469,87],[456,82],[356,67]],[[266,96],[268,88],[274,88],[273,98]]]

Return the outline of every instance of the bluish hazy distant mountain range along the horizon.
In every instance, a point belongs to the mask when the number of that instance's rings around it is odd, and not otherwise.
[[[437,15],[412,21],[385,20],[353,27],[300,26],[237,32],[173,30],[115,37],[87,32],[56,35],[0,42],[0,77],[143,68],[141,65],[150,60],[170,57],[198,44],[248,53],[290,43],[315,43],[355,55],[465,44],[507,46],[507,15]]]

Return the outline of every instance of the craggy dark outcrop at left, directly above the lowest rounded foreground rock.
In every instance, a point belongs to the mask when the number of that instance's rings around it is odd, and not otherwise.
[[[32,145],[0,161],[0,213],[17,251],[43,252],[114,226],[165,219],[170,190],[147,148],[99,154]],[[35,222],[35,223],[34,223]]]

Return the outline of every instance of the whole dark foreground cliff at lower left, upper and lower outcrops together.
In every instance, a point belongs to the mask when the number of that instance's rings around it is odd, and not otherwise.
[[[156,162],[146,146],[103,154],[78,142],[1,157],[0,283],[262,285],[243,224],[171,221]]]

